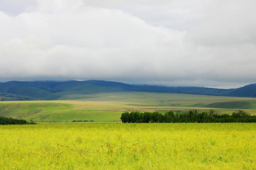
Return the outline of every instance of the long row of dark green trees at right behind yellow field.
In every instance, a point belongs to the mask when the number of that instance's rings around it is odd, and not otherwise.
[[[197,110],[190,110],[183,114],[174,113],[174,111],[167,111],[165,114],[154,112],[124,112],[121,115],[123,123],[176,123],[176,122],[198,122],[198,123],[211,123],[211,122],[256,122],[256,115],[249,115],[242,110],[228,114],[216,114],[214,110],[210,112],[201,112]]]

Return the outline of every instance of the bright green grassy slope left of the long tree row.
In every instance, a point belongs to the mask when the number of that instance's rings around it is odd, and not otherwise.
[[[66,101],[65,101],[66,102]],[[83,103],[84,104],[84,103]],[[122,111],[108,110],[74,110],[73,104],[60,102],[11,102],[0,104],[1,115],[32,119],[33,121],[94,120],[96,122],[120,121]]]

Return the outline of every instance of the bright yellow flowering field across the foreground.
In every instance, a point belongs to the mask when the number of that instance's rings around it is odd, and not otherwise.
[[[0,126],[0,170],[256,170],[255,123]]]

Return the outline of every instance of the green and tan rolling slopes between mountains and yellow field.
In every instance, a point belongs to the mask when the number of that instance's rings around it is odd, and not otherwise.
[[[37,122],[70,123],[94,120],[94,123],[120,122],[123,111],[192,109],[231,114],[244,110],[256,114],[256,99],[176,93],[99,93],[81,95],[81,100],[0,102],[0,115]],[[61,122],[60,122],[61,121]]]

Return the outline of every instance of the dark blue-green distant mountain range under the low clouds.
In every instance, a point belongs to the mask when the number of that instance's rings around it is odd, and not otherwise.
[[[82,94],[111,92],[189,93],[218,96],[256,97],[256,84],[237,89],[129,85],[111,81],[10,81],[0,83],[0,100],[79,99]]]

